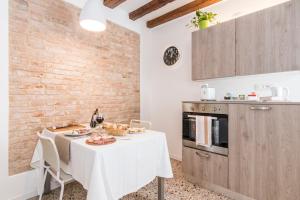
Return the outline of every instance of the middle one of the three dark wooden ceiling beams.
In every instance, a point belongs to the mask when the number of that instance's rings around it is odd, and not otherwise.
[[[173,2],[174,0],[152,0],[149,3],[139,7],[138,9],[129,13],[129,18],[131,20],[137,20],[163,6],[167,5],[168,3]]]

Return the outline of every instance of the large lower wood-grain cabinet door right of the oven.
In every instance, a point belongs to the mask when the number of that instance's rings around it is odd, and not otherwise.
[[[299,121],[300,106],[230,105],[229,189],[257,200],[299,199]]]

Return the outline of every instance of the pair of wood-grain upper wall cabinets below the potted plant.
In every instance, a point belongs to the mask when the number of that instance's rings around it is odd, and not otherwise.
[[[192,34],[192,79],[300,70],[300,0]]]

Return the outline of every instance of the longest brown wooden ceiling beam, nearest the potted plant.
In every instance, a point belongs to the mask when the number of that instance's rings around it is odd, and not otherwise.
[[[153,20],[148,21],[147,27],[154,28],[156,26],[159,26],[161,24],[164,24],[164,23],[174,20],[176,18],[182,17],[182,16],[187,15],[196,10],[205,8],[212,4],[218,3],[220,1],[221,0],[195,0],[195,1],[192,1],[191,3],[188,3],[184,6],[181,6],[177,9],[171,11],[171,12],[166,13],[160,17],[157,17]]]

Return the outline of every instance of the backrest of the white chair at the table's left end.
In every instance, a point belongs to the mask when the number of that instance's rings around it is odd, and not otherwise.
[[[46,161],[50,165],[50,168],[55,170],[57,176],[59,176],[60,159],[53,139],[42,136],[40,133],[38,133],[38,136],[42,145],[44,161]]]

